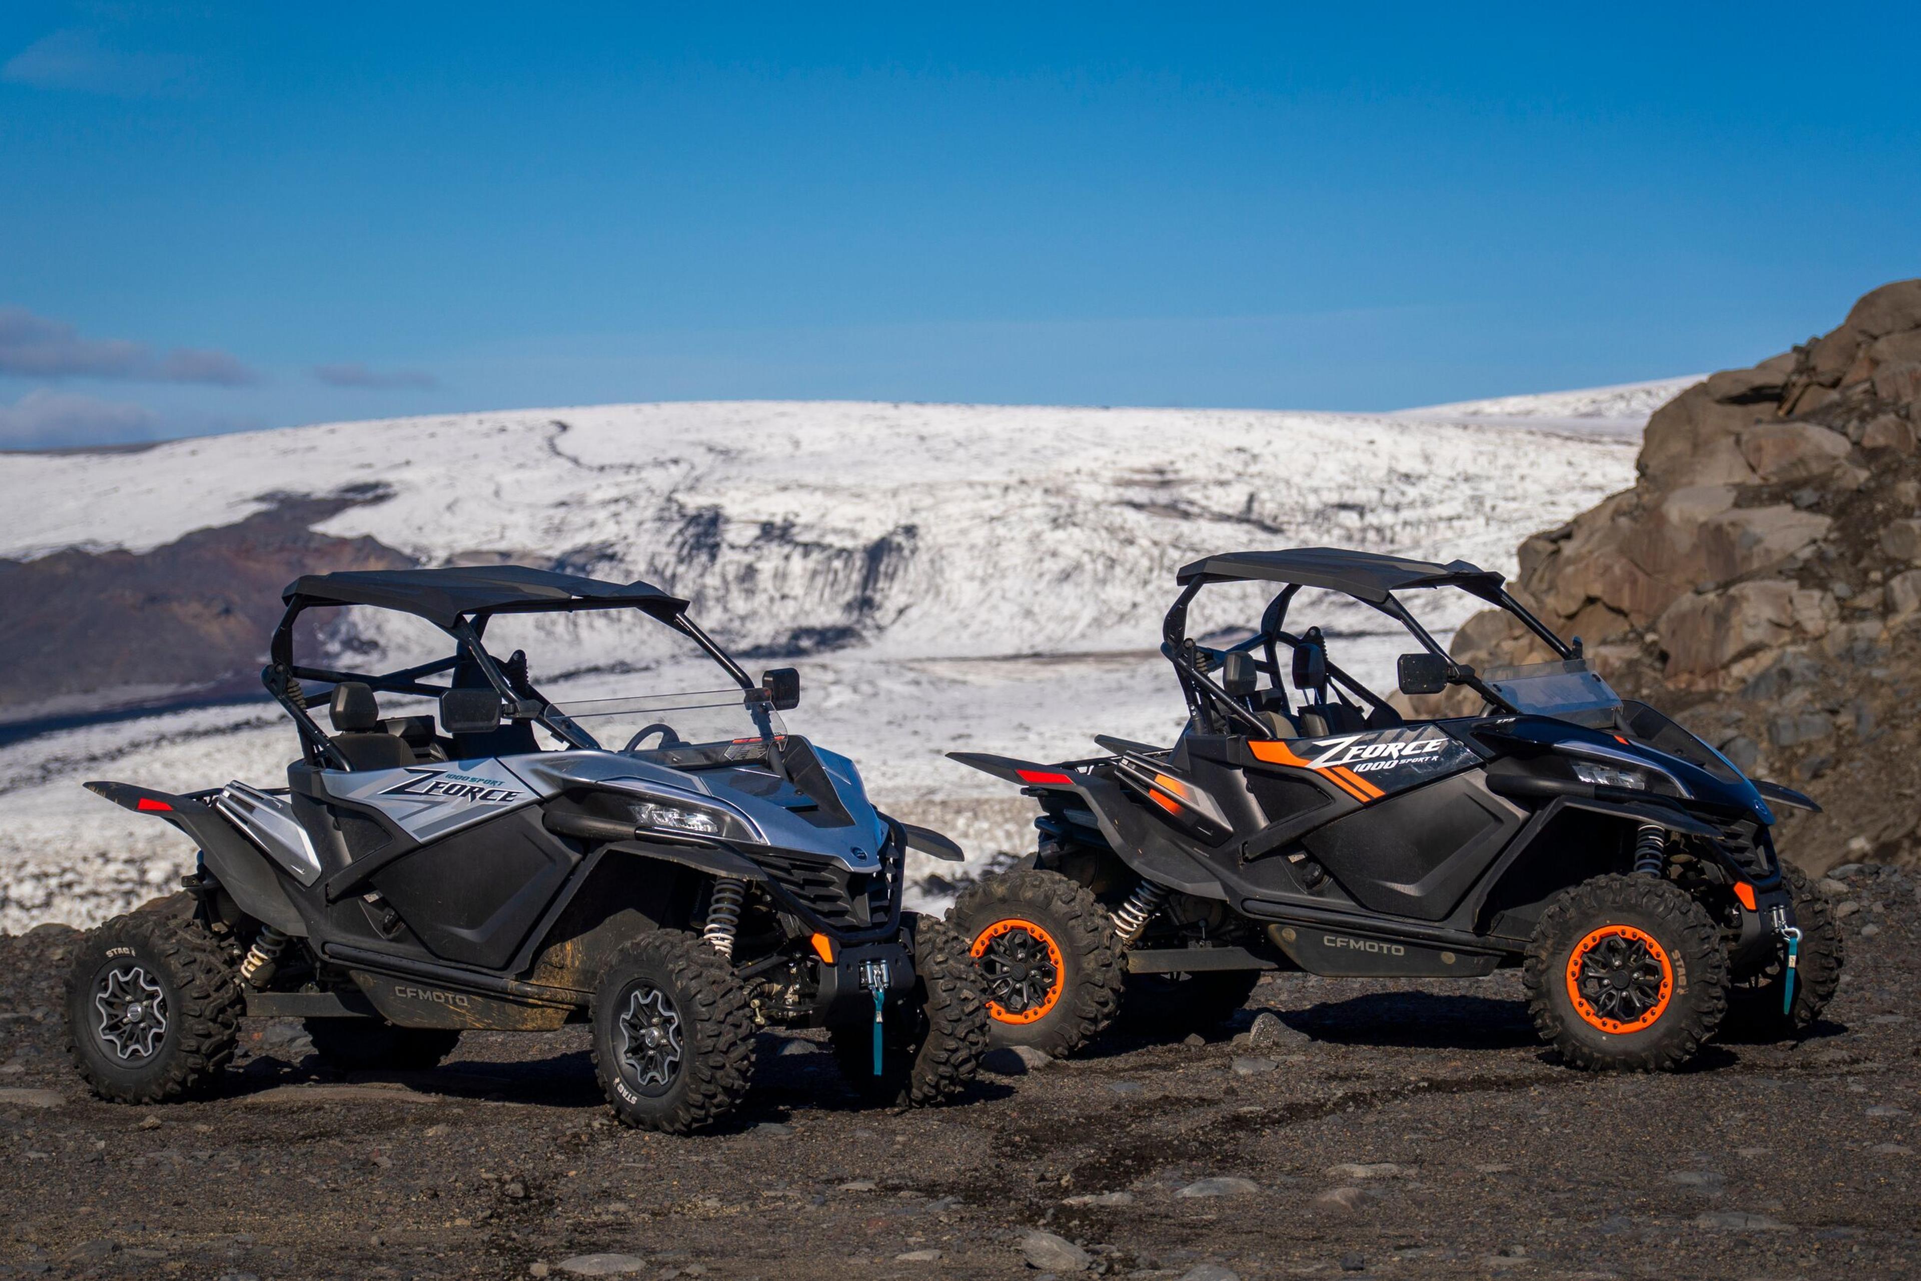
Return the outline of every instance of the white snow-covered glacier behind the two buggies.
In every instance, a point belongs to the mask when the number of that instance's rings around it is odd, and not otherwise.
[[[793,728],[855,757],[886,809],[984,855],[1026,845],[1026,803],[943,753],[1060,757],[1085,753],[1093,732],[1168,737],[1181,705],[1155,645],[1179,565],[1333,544],[1512,570],[1527,532],[1631,484],[1633,432],[1564,421],[1585,405],[1644,421],[1658,399],[1639,384],[1602,392],[1617,394],[1397,415],[590,405],[0,453],[0,557],[140,553],[290,495],[348,494],[357,501],[317,530],[423,565],[647,578],[728,645],[797,655],[778,659],[805,680]],[[1252,609],[1252,590],[1229,590],[1208,618]],[[1393,640],[1345,618],[1341,661],[1385,672]],[[1458,620],[1433,616],[1443,632]],[[619,659],[597,624],[551,640],[536,663],[578,680]],[[267,705],[0,747],[0,928],[96,920],[190,862],[169,828],[94,801],[81,780],[271,786],[292,751]]]

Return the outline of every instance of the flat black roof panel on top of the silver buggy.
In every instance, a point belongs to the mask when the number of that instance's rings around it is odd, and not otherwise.
[[[377,568],[304,574],[280,599],[292,605],[373,605],[419,615],[444,628],[461,615],[611,609],[638,605],[678,615],[686,601],[651,582],[601,582],[524,565],[455,565],[450,568]]]

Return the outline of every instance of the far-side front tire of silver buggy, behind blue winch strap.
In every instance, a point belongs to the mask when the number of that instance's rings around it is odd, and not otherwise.
[[[905,912],[914,943],[914,987],[882,1014],[880,1076],[874,1076],[874,1024],[828,1029],[834,1062],[863,1100],[930,1108],[957,1099],[974,1081],[987,1051],[987,1010],[966,939],[945,922]]]

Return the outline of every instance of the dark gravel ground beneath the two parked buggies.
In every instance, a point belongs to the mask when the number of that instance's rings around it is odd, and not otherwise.
[[[0,935],[0,1275],[1921,1275],[1915,880],[1831,891],[1829,1020],[1679,1076],[1560,1068],[1512,972],[1285,976],[1210,1041],[1110,1039],[937,1112],[861,1110],[818,1041],[763,1037],[701,1139],[613,1125],[578,1027],[340,1077],[254,1022],[221,1099],[108,1106],[44,926]]]

